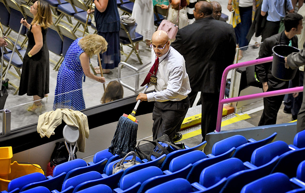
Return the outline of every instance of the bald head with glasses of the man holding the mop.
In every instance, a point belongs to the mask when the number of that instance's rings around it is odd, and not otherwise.
[[[157,30],[152,34],[152,48],[154,49],[156,56],[161,57],[166,54],[170,47],[169,45],[170,41],[165,31]]]

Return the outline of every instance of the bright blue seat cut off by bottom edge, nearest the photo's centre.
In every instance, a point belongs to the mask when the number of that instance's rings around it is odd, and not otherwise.
[[[177,178],[168,182],[165,182],[163,184],[159,184],[156,187],[150,188],[146,191],[146,193],[185,193],[185,192],[193,192],[191,184],[183,179],[183,178]]]

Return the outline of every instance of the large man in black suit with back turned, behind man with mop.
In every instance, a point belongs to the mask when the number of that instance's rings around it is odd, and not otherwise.
[[[203,140],[216,128],[217,108],[224,69],[233,64],[236,48],[232,25],[212,17],[210,2],[199,1],[195,5],[195,22],[178,30],[171,44],[185,59],[192,92],[192,103],[201,91]]]

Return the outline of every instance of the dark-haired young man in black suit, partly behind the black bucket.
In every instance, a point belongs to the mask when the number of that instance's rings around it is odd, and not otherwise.
[[[275,34],[264,40],[263,44],[260,46],[260,52],[258,58],[265,58],[273,54],[272,47],[276,45],[289,45],[293,47],[298,47],[298,38],[296,34],[301,34],[303,16],[298,13],[289,13],[284,17],[285,30],[281,33]],[[273,91],[280,89],[287,89],[289,86],[289,81],[284,81],[275,78],[271,74],[272,62],[265,64],[255,65],[255,72],[257,79],[263,85],[263,91]],[[298,85],[299,77],[295,77],[292,81],[293,84]],[[258,126],[261,125],[274,125],[276,124],[276,118],[278,110],[281,107],[284,95],[265,97],[264,98],[264,111],[260,117],[260,122]]]

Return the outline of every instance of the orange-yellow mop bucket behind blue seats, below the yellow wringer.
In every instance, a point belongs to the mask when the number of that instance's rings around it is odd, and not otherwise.
[[[19,164],[16,161],[9,164],[11,173],[0,175],[0,191],[7,190],[9,182],[17,177],[21,177],[27,174],[32,174],[34,172],[39,172],[45,174],[43,170],[40,169],[40,166],[37,164]],[[36,167],[35,167],[36,166]],[[38,168],[39,167],[39,168]]]

